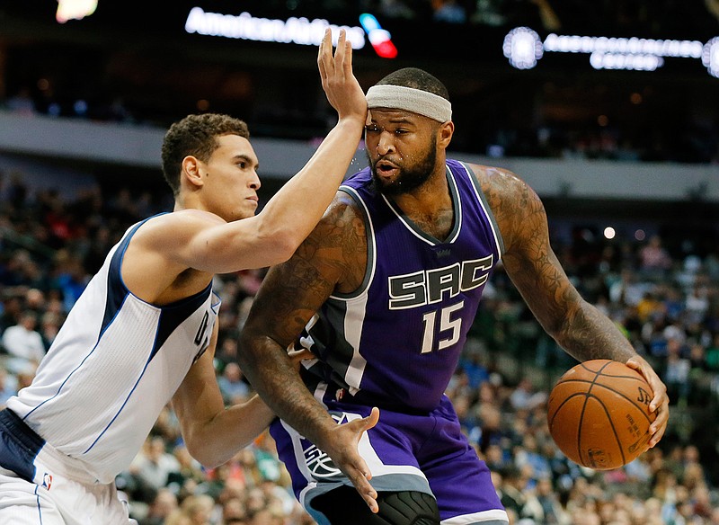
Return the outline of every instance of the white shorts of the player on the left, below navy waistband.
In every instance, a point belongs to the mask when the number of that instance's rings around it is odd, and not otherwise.
[[[129,525],[128,504],[114,484],[87,485],[53,473],[34,483],[0,468],[0,523],[13,525]]]

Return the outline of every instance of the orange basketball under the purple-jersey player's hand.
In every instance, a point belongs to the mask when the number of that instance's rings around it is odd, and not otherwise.
[[[652,387],[615,360],[588,360],[567,370],[547,401],[549,432],[567,458],[610,470],[640,456],[649,440]]]

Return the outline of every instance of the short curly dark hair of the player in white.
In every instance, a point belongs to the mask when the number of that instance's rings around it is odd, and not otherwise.
[[[164,135],[162,160],[164,179],[173,189],[180,191],[180,172],[182,159],[196,156],[203,162],[219,147],[217,137],[238,135],[250,138],[250,130],[244,120],[235,119],[219,113],[188,115],[175,122]]]

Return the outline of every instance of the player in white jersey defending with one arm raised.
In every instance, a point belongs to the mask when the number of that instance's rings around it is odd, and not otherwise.
[[[0,523],[127,525],[114,479],[172,401],[191,454],[220,465],[273,414],[253,397],[225,407],[212,360],[220,299],[215,273],[285,261],[321,218],[367,117],[341,33],[318,53],[339,121],[315,155],[255,215],[258,160],[242,120],[191,115],[173,124],[163,171],[173,212],[129,227],[67,316],[30,387],[0,412]],[[290,365],[291,366],[291,365]],[[359,441],[377,413],[338,427]],[[341,440],[341,441],[342,441]],[[376,496],[351,447],[348,475]],[[361,478],[361,479],[360,479]],[[366,485],[363,485],[366,484]]]

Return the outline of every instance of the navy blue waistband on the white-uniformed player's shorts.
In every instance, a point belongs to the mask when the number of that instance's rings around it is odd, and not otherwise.
[[[35,458],[44,445],[45,440],[13,411],[0,411],[0,466],[31,482],[35,477]]]

